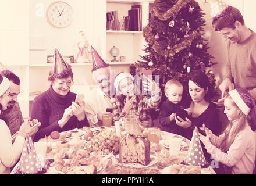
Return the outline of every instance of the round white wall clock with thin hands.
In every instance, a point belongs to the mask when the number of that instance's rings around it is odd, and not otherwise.
[[[49,5],[46,16],[51,26],[65,28],[72,22],[73,10],[66,2],[56,1]]]

